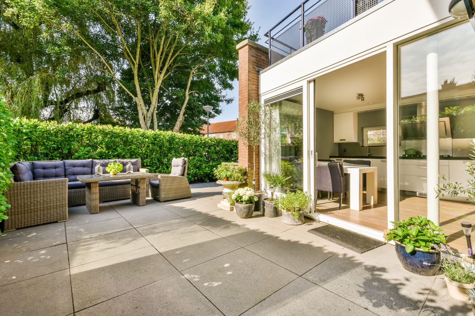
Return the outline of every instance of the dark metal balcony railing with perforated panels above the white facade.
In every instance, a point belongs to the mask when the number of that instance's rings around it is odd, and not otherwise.
[[[384,0],[305,0],[265,34],[275,64]]]

